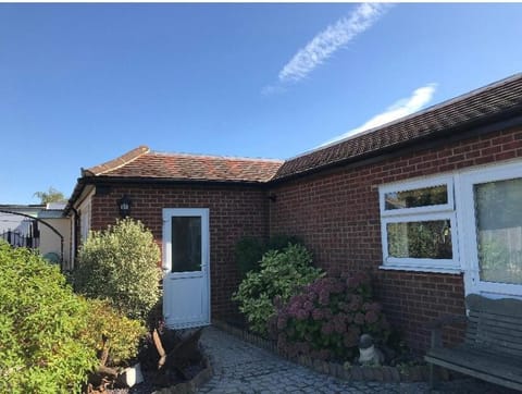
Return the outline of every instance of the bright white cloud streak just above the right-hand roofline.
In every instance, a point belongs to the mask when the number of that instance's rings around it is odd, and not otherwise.
[[[371,118],[361,126],[352,128],[349,132],[346,132],[335,138],[332,138],[325,141],[324,144],[321,144],[320,147],[324,147],[326,145],[337,143],[347,137],[351,137],[356,134],[365,132],[366,130],[382,126],[383,124],[393,122],[403,116],[408,116],[409,114],[412,114],[421,110],[432,100],[436,88],[437,88],[437,84],[428,84],[426,86],[415,89],[410,97],[400,99],[394,102],[384,112]]]

